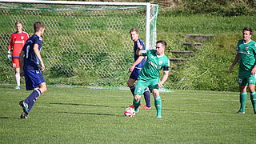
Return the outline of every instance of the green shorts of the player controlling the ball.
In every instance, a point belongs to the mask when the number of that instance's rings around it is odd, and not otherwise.
[[[150,80],[138,79],[134,94],[142,95],[146,87],[149,87],[150,90],[159,89],[158,82],[159,78],[154,78]]]

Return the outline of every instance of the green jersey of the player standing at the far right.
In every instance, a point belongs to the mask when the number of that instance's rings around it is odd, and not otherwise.
[[[244,40],[239,40],[237,51],[240,55],[240,71],[252,70],[255,65],[256,42],[250,40],[250,42],[244,43]]]

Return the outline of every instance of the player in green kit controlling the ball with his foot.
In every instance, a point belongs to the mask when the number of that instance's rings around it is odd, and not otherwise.
[[[156,42],[156,50],[142,50],[140,47],[137,49],[137,54],[147,56],[146,63],[142,67],[138,75],[138,82],[135,87],[134,95],[134,110],[138,113],[138,107],[141,96],[146,87],[152,91],[154,95],[154,106],[157,109],[157,118],[162,118],[162,100],[159,96],[159,88],[163,86],[168,78],[170,69],[169,58],[165,55],[166,42]],[[160,70],[163,70],[162,80],[159,81]]]

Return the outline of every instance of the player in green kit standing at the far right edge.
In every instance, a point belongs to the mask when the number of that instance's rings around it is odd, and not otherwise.
[[[246,27],[242,30],[242,40],[238,41],[237,51],[234,58],[234,62],[230,66],[230,72],[237,62],[239,64],[238,83],[240,90],[240,109],[238,114],[245,114],[246,109],[246,89],[247,86],[250,90],[250,100],[254,108],[254,114],[256,114],[256,93],[255,93],[255,82],[256,82],[256,42],[251,40],[253,31]]]

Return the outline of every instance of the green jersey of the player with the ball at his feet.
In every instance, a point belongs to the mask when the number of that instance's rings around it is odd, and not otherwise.
[[[166,55],[161,57],[157,55],[156,50],[142,50],[142,56],[147,56],[146,62],[138,75],[138,79],[159,78],[160,70],[169,71],[170,61]]]

